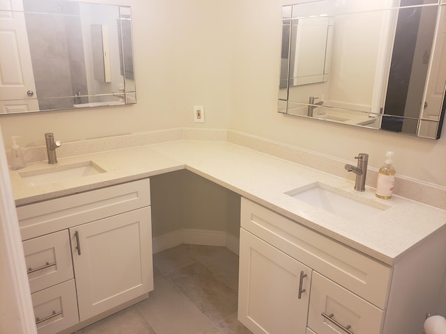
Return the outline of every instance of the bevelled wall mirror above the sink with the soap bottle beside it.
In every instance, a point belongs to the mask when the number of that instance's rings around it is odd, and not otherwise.
[[[438,139],[445,84],[446,1],[282,7],[279,113]]]

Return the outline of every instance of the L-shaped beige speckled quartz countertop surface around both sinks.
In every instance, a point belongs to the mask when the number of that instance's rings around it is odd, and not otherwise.
[[[22,170],[11,170],[16,205],[186,168],[390,265],[439,229],[446,228],[445,210],[399,196],[380,200],[374,195],[374,189],[367,187],[366,191],[358,192],[353,190],[353,182],[349,180],[224,141],[158,143],[59,159],[57,166],[79,161],[93,161],[107,173],[28,186],[20,173],[52,167],[43,161],[29,164]],[[347,196],[360,196],[364,201],[388,209],[372,217],[359,216],[349,221],[284,194],[314,182],[328,184]]]

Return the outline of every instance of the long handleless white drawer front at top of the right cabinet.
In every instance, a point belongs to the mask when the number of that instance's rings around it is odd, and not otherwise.
[[[240,224],[272,246],[384,309],[391,269],[242,198]]]

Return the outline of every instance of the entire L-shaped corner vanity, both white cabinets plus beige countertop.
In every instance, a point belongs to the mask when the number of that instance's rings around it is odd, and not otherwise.
[[[84,154],[59,159],[55,171],[85,161],[103,173],[30,186],[24,179],[47,164],[11,171],[40,334],[69,333],[146,298],[149,178],[182,169],[240,195],[238,319],[253,333],[417,334],[438,312],[444,209],[380,200],[369,187],[224,141]],[[380,209],[348,218],[294,196],[315,185]]]

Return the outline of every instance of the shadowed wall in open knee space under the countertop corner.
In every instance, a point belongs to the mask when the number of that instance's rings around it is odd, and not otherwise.
[[[240,196],[190,171],[151,177],[151,205],[153,237],[180,228],[239,237]]]

